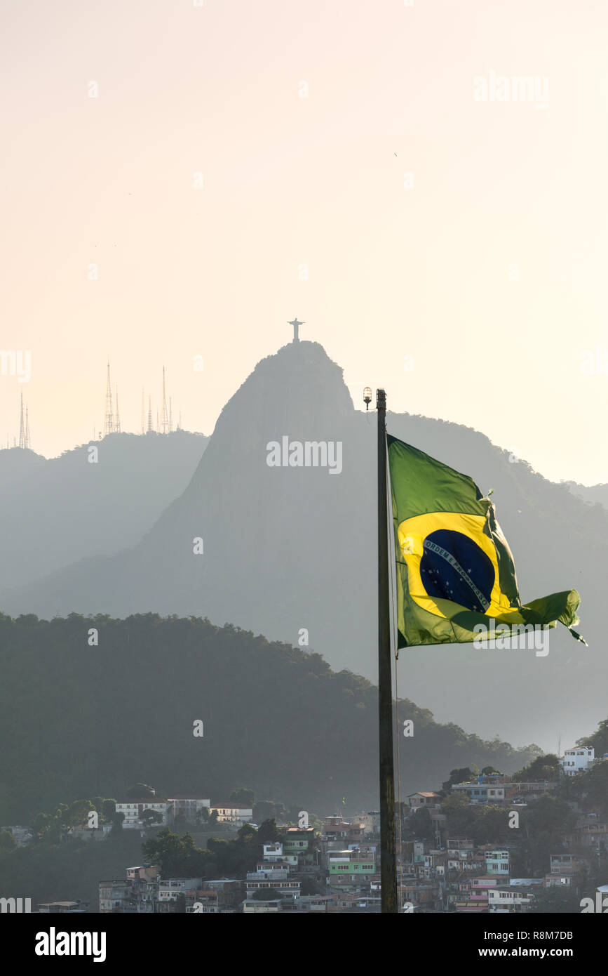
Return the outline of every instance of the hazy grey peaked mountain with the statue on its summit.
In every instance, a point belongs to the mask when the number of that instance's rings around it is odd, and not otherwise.
[[[389,404],[391,390],[388,390]],[[482,417],[480,418],[480,424]],[[389,414],[389,431],[475,478],[509,540],[522,600],[575,587],[580,630],[534,650],[443,645],[402,651],[399,694],[467,729],[555,750],[605,712],[600,633],[608,512],[455,424]],[[317,343],[261,360],[224,407],[185,491],[133,549],[95,556],[5,590],[0,608],[206,615],[269,639],[301,629],[331,667],[375,679],[375,416],[355,410],[342,371]],[[342,470],[269,467],[269,442],[342,443]],[[204,541],[203,554],[193,542]],[[106,550],[107,551],[107,550]]]

